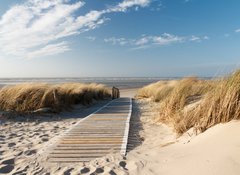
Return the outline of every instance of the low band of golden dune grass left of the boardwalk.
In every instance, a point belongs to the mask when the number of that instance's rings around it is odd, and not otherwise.
[[[0,109],[25,113],[50,108],[51,111],[60,112],[73,104],[89,105],[94,100],[108,97],[110,91],[101,84],[27,83],[0,89]]]

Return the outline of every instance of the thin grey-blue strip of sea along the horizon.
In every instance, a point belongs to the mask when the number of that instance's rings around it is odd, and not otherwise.
[[[14,85],[20,83],[101,83],[108,87],[115,86],[120,89],[140,88],[160,80],[175,78],[165,77],[80,77],[80,78],[0,78],[0,86]]]

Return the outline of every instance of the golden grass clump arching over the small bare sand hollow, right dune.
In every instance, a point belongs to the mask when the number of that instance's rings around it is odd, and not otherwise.
[[[156,121],[164,121],[173,125],[177,133],[188,129],[190,121],[185,121],[186,108],[198,102],[212,88],[212,83],[196,77],[179,80],[171,93],[160,103],[159,116]],[[191,108],[187,109],[189,111]],[[182,124],[184,123],[184,124]],[[192,121],[190,122],[192,123]]]

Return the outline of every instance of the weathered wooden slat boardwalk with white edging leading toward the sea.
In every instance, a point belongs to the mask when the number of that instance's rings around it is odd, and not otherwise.
[[[119,98],[85,117],[51,150],[50,162],[86,162],[109,153],[126,154],[132,100]]]

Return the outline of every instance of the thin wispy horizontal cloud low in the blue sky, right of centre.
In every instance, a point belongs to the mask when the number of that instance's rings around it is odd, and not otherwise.
[[[127,45],[132,47],[137,47],[137,49],[148,48],[153,45],[171,45],[175,43],[184,43],[184,42],[200,42],[201,40],[208,40],[208,36],[198,37],[198,36],[177,36],[169,33],[163,33],[158,36],[146,36],[143,35],[137,39],[127,39],[127,38],[106,38],[104,42],[111,43],[113,45]]]

